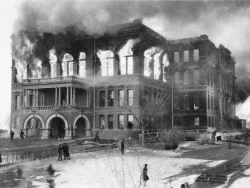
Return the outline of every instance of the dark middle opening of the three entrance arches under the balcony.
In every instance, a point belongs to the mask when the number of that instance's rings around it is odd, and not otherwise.
[[[50,121],[50,133],[51,138],[64,138],[65,137],[65,123],[63,119],[54,117]]]

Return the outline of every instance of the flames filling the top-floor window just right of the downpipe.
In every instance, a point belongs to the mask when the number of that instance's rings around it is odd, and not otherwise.
[[[113,57],[114,53],[110,50],[98,50],[97,56],[101,62],[101,73],[102,76],[113,75],[114,63]]]

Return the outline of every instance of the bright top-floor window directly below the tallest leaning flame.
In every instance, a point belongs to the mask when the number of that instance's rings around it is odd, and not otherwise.
[[[120,58],[119,69],[121,75],[133,74],[133,56],[124,56]]]

